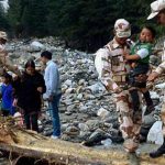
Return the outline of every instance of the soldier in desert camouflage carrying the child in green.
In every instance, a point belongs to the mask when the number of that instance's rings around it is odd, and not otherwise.
[[[123,51],[129,48],[127,40],[130,35],[130,23],[124,19],[117,20],[114,37],[103,48],[98,50],[95,65],[106,89],[116,95],[120,130],[124,139],[123,146],[128,152],[134,152],[139,145],[142,113],[139,111],[133,114],[130,107],[130,92],[127,88],[127,75],[130,66],[124,59]]]

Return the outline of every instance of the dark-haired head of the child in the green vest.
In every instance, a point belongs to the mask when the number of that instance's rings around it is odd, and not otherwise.
[[[152,26],[144,26],[140,33],[140,41],[143,43],[153,43],[156,31]]]

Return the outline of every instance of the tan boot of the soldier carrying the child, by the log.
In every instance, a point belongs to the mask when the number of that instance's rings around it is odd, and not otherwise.
[[[127,139],[123,143],[123,147],[129,153],[134,153],[139,147],[139,143],[135,142],[133,139]]]

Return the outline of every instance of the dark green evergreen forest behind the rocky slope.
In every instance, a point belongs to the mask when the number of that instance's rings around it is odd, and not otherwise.
[[[16,36],[61,36],[68,46],[92,51],[113,37],[117,19],[127,19],[132,32],[150,21],[153,0],[9,0],[8,20]],[[151,21],[152,24],[155,24]],[[161,28],[155,28],[158,35]]]

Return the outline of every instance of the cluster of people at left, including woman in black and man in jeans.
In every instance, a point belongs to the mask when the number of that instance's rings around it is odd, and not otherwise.
[[[58,103],[62,90],[58,68],[52,61],[52,53],[48,51],[41,53],[41,61],[45,65],[44,76],[35,69],[33,59],[29,59],[25,63],[22,72],[13,66],[8,58],[8,53],[4,48],[7,40],[7,33],[0,31],[2,116],[14,116],[15,109],[19,109],[26,129],[38,132],[37,119],[41,113],[42,99],[44,99],[48,101],[48,110],[53,121],[52,138],[61,138]]]

